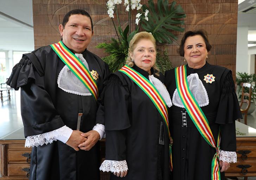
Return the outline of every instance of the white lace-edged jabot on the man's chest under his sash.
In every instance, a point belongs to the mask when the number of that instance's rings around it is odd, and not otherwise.
[[[75,54],[89,69],[87,61],[82,54]],[[58,87],[65,92],[81,96],[91,96],[90,91],[84,86],[84,84],[76,77],[75,74],[65,65],[58,76]]]

